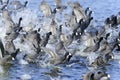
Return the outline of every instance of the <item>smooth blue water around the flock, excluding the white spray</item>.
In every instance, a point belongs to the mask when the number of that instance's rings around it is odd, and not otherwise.
[[[36,10],[35,12],[37,13],[41,0],[28,1],[28,7]],[[50,2],[52,5],[52,0],[46,1]],[[100,22],[103,22],[106,17],[116,14],[120,10],[120,0],[79,0],[79,2],[84,8],[89,6],[94,11],[94,18],[96,20],[99,19],[98,21]],[[23,75],[26,74],[28,75],[27,77],[31,76],[30,80],[51,80],[53,77],[55,77],[56,80],[81,80],[82,75],[87,71],[87,68],[82,64],[73,64],[72,66],[60,65],[57,68],[54,68],[53,66],[41,68],[35,64],[20,65],[13,62],[12,66],[7,67],[4,70],[5,73],[0,74],[0,80],[20,80]],[[118,62],[111,62],[111,65],[107,67],[107,72],[110,73],[111,80],[118,80],[120,78],[120,65]]]

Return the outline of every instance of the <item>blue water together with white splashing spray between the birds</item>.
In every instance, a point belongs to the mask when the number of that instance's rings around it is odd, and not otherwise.
[[[24,0],[21,0],[24,2]],[[28,8],[25,8],[22,11],[15,11],[14,14],[12,14],[12,19],[15,23],[18,23],[18,20],[20,17],[23,17],[23,21],[21,26],[25,31],[29,31],[31,29],[37,30],[39,27],[44,27],[46,24],[50,24],[50,20],[41,19],[41,13],[38,9],[38,6],[40,4],[39,0],[28,0],[29,5]],[[49,2],[50,5],[53,5],[54,3],[52,0],[46,0]],[[75,0],[73,0],[75,1]],[[104,19],[112,14],[116,14],[118,10],[120,10],[119,3],[120,0],[107,0],[106,2],[104,0],[79,0],[81,5],[86,8],[88,6],[91,7],[91,9],[94,11],[94,17],[95,19],[99,19],[98,22],[103,22]],[[97,5],[96,5],[97,4]],[[69,13],[70,11],[64,11],[64,13]],[[63,15],[57,16],[57,22],[61,24],[64,20]],[[101,23],[100,23],[101,24]],[[0,38],[4,42],[5,37],[5,28],[4,23],[2,20],[2,17],[0,16]],[[45,33],[44,30],[41,31],[43,34]],[[46,30],[47,32],[47,30]],[[65,32],[65,31],[64,31]],[[67,31],[65,32],[67,33]],[[114,35],[113,35],[114,36]],[[23,53],[31,53],[32,50],[29,48],[30,43],[20,44],[20,39],[17,38],[15,41],[16,48],[21,48],[21,50],[26,51]],[[74,46],[76,47],[76,46]],[[84,46],[81,46],[82,49],[84,49]],[[81,49],[80,47],[80,49]],[[81,51],[82,52],[82,51]],[[78,55],[80,52],[78,52]],[[43,57],[46,58],[49,56],[46,55]],[[93,57],[93,56],[92,56]],[[49,59],[48,59],[49,60]],[[45,60],[44,60],[45,61]],[[83,61],[84,62],[84,61]],[[22,60],[21,60],[22,63]],[[61,73],[59,73],[59,76],[57,78],[51,78],[48,75],[43,74],[44,72],[48,72],[50,67],[47,63],[47,59],[45,62],[41,61],[39,62],[42,66],[36,66],[34,64],[27,64],[27,65],[20,65],[14,62],[15,65],[10,67],[10,70],[8,73],[6,73],[5,76],[0,75],[1,80],[81,80],[81,76],[87,71],[85,65],[76,64],[71,67],[65,67],[65,66],[59,66],[61,69]],[[108,73],[111,75],[111,80],[117,80],[120,78],[119,71],[120,71],[120,65],[117,64],[117,62],[111,62],[111,66],[108,67]],[[0,72],[4,72],[3,68],[0,67]],[[16,74],[17,73],[17,74]],[[27,73],[27,74],[26,74]]]

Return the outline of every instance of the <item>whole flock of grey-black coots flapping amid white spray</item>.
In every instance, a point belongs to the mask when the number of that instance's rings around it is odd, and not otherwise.
[[[29,2],[0,0],[0,18],[4,23],[0,26],[0,65],[4,68],[14,61],[42,67],[69,65],[84,57],[87,62],[83,64],[90,70],[83,80],[109,80],[104,68],[120,51],[120,13],[106,18],[98,27],[91,25],[94,18],[89,7],[83,9],[77,1],[68,1],[66,5],[61,0],[53,1],[54,7],[45,0],[39,5],[38,19],[43,24],[26,28],[21,25],[24,17],[16,23],[11,15],[24,11]],[[67,9],[71,12],[65,13]]]

